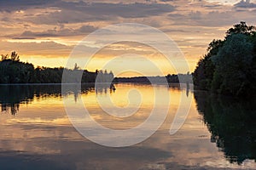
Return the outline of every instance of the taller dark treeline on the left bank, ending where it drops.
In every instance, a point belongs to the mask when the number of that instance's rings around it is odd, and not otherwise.
[[[69,82],[106,82],[113,79],[113,73],[110,71],[95,71],[79,69],[78,65],[74,65],[73,69],[63,67],[49,68],[37,67],[31,63],[20,62],[20,57],[13,52],[11,55],[2,54],[0,60],[0,83],[61,83],[62,73],[67,71]],[[78,74],[79,73],[79,74]],[[77,77],[82,75],[82,77]]]

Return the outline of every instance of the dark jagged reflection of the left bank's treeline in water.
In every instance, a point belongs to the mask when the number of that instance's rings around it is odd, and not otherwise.
[[[69,92],[74,95],[74,100],[79,94],[87,94],[94,84],[68,85]],[[0,86],[1,111],[16,115],[20,104],[30,104],[33,99],[61,97],[61,85],[2,85]]]

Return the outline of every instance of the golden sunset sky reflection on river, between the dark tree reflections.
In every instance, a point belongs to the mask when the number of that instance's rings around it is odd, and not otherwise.
[[[115,93],[110,94],[108,89],[107,95],[104,93],[97,95],[101,95],[101,98],[109,95],[115,105],[127,105],[127,93],[130,89],[137,88],[143,97],[141,107],[135,114],[128,117],[106,114],[99,107],[94,90],[78,94],[78,100],[82,99],[91,113],[90,116],[105,127],[125,129],[137,126],[148,117],[148,112],[154,105],[154,99],[151,98],[154,93],[152,87],[118,84],[116,88]],[[75,162],[78,167],[90,169],[94,169],[96,165],[102,168],[111,167],[110,169],[123,169],[123,167],[127,167],[126,169],[138,167],[142,169],[177,169],[177,167],[180,169],[215,167],[253,169],[256,166],[253,160],[246,160],[241,166],[226,160],[223,151],[219,150],[215,143],[211,143],[212,134],[202,121],[194,98],[183,127],[175,135],[170,136],[169,128],[181,96],[187,94],[186,88],[182,88],[181,91],[179,87],[158,86],[157,90],[163,94],[166,92],[170,94],[171,105],[166,122],[157,133],[136,146],[109,149],[84,139],[72,127],[63,108],[64,99],[69,101],[68,105],[73,106],[74,109],[78,105],[74,100],[74,94],[69,94],[63,98],[50,95],[32,99],[30,104],[20,104],[15,116],[7,113],[0,114],[0,153],[11,150],[14,151],[12,156],[16,156],[15,152],[26,152],[32,156],[54,156],[50,159],[56,164],[61,164],[64,160],[68,163]],[[137,94],[134,96],[136,97]],[[158,105],[161,104],[158,103]],[[26,162],[31,161],[26,160]]]

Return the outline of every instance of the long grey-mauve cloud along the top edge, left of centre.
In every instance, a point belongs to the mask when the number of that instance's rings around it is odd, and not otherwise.
[[[68,4],[68,5],[67,5]],[[32,22],[43,24],[78,23],[96,20],[116,20],[122,18],[143,18],[170,13],[172,5],[158,3],[62,3],[50,14],[32,17]],[[39,19],[39,20],[38,20]]]

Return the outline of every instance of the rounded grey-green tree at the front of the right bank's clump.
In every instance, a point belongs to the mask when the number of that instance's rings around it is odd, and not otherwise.
[[[242,95],[247,94],[250,88],[249,72],[253,61],[253,43],[248,41],[244,34],[230,35],[219,49],[218,54],[212,57],[217,65],[213,82],[219,81],[221,75],[223,81],[214,90],[219,89],[223,94]]]

